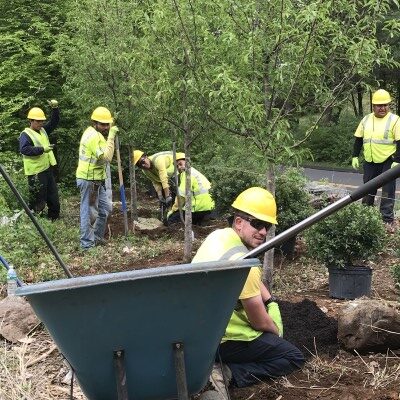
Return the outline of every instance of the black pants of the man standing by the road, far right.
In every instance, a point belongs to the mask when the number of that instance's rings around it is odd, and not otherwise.
[[[392,162],[393,162],[392,157],[389,157],[383,163],[373,163],[364,161],[364,176],[363,176],[364,183],[370,181],[371,179],[382,174],[383,172],[389,170],[392,166]],[[368,195],[362,199],[363,204],[367,206],[373,206],[375,202],[376,192],[377,189],[368,193]],[[393,209],[394,209],[395,195],[396,195],[396,180],[393,180],[382,187],[382,198],[379,210],[381,212],[382,220],[384,222],[393,222],[394,220]]]

